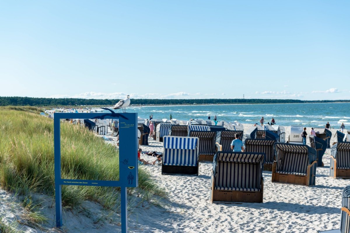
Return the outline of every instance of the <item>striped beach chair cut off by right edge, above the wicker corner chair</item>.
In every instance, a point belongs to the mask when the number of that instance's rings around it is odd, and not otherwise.
[[[350,178],[350,142],[334,144],[330,154],[329,176]]]

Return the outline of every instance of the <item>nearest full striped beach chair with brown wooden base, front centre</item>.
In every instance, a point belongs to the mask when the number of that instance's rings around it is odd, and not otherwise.
[[[262,203],[264,154],[218,151],[213,160],[211,202]]]

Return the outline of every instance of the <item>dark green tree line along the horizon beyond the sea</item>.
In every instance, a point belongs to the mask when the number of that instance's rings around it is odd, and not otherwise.
[[[112,106],[119,100],[75,99],[75,98],[37,98],[37,97],[1,97],[0,106]],[[279,100],[279,99],[131,99],[131,104],[257,104],[257,103],[331,103],[350,102],[350,100]]]

